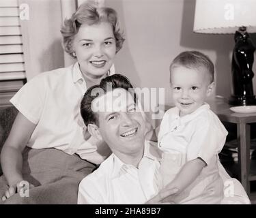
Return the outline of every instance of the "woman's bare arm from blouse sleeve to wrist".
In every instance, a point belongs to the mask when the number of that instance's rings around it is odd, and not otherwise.
[[[1,151],[1,167],[10,187],[23,181],[23,150],[35,129],[23,114],[18,112],[10,134]]]

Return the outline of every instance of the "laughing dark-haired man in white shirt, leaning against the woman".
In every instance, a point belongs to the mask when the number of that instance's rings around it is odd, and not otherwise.
[[[113,153],[83,178],[78,204],[156,204],[178,191],[162,189],[161,153],[145,140],[146,122],[126,77],[115,74],[88,89],[81,114],[89,133],[104,140]],[[240,203],[246,202],[243,194],[242,200],[236,199]]]

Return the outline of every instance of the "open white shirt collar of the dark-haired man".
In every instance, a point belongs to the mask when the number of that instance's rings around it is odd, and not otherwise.
[[[112,178],[119,176],[122,173],[122,170],[126,170],[127,168],[134,168],[131,164],[124,163],[119,157],[112,154],[113,157],[113,172]],[[142,159],[147,158],[152,161],[159,161],[161,158],[161,151],[157,147],[156,142],[145,140],[144,145],[144,154]],[[141,160],[142,160],[141,159]]]

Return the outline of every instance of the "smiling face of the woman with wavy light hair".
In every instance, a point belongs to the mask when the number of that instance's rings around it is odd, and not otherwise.
[[[109,71],[115,57],[113,27],[108,22],[81,25],[72,46],[81,72],[89,78],[100,78]]]

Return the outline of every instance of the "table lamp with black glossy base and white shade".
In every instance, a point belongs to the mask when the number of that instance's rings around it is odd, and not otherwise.
[[[231,72],[233,90],[229,104],[254,105],[253,55],[255,46],[248,33],[256,33],[255,0],[197,0],[196,33],[235,33]]]

